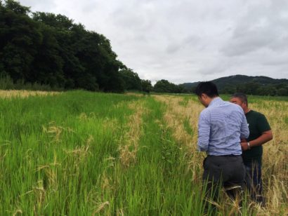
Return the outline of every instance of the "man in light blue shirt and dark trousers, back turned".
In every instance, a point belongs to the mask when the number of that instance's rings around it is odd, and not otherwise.
[[[218,187],[235,198],[244,184],[244,164],[240,138],[249,136],[249,128],[240,106],[224,102],[212,82],[198,84],[195,94],[206,107],[198,124],[198,149],[206,151],[203,181],[207,183],[207,198],[218,201]]]

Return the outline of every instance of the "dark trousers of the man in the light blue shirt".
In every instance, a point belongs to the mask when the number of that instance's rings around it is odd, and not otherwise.
[[[242,193],[245,168],[242,156],[207,156],[203,161],[206,199],[218,202],[218,189],[225,187],[230,198]]]

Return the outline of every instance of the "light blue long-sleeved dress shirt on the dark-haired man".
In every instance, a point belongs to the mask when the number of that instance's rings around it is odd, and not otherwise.
[[[208,155],[241,155],[240,138],[249,136],[243,109],[214,98],[199,116],[198,149]]]

